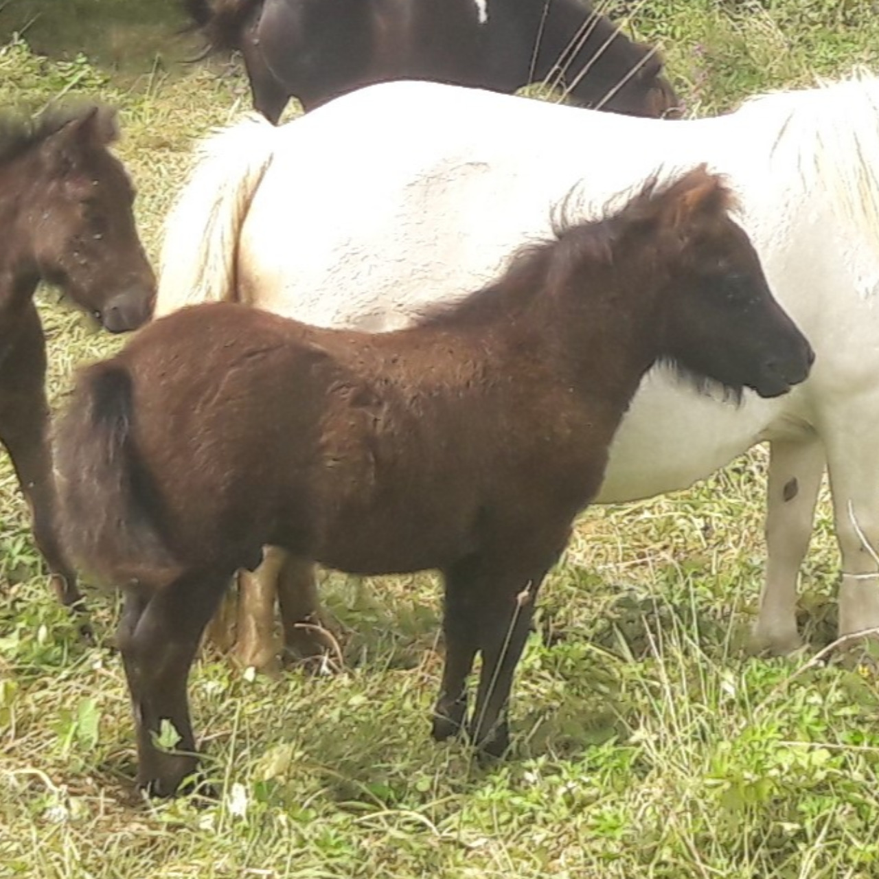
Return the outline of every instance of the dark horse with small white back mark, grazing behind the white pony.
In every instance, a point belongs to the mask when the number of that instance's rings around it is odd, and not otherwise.
[[[211,49],[239,49],[253,105],[276,123],[393,79],[513,92],[545,82],[574,103],[662,116],[678,98],[656,50],[581,0],[184,0]]]

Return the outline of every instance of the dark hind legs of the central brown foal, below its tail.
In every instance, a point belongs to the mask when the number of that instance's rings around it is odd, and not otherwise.
[[[126,592],[119,648],[134,711],[137,783],[151,795],[172,795],[198,766],[186,684],[201,634],[231,574],[200,571],[161,590]],[[173,751],[156,743],[163,721],[179,737]]]

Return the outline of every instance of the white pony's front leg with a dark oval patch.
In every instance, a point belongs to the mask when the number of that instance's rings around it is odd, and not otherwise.
[[[803,643],[796,630],[796,585],[824,469],[824,447],[817,438],[769,444],[766,582],[753,631],[755,650],[783,654]]]

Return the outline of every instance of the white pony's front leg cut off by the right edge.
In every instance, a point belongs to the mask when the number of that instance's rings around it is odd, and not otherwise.
[[[839,635],[879,628],[879,478],[875,430],[848,422],[827,440],[833,517],[842,556]]]

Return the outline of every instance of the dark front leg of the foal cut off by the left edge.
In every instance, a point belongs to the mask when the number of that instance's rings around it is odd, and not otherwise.
[[[11,333],[15,336],[7,342],[4,337]],[[54,531],[56,499],[48,436],[46,342],[33,302],[28,301],[4,325],[0,358],[0,441],[9,451],[30,507],[33,540],[46,559],[53,590],[66,607],[83,611],[76,574],[64,559]],[[82,630],[89,631],[85,622]]]

